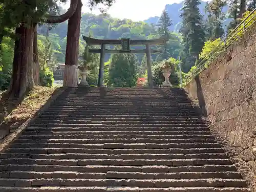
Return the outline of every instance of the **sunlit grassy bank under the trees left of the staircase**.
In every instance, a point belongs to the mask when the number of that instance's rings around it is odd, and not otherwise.
[[[17,129],[46,103],[56,88],[34,87],[21,102],[5,98],[4,92],[0,92],[0,129]]]

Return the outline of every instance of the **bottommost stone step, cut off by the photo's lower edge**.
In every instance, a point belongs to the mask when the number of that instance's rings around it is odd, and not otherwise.
[[[141,187],[0,187],[1,192],[249,192],[244,187],[168,187],[168,188],[141,188]]]

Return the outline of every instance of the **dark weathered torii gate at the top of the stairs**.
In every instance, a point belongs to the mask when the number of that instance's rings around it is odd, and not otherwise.
[[[164,38],[148,39],[148,40],[132,40],[129,38],[122,39],[96,39],[87,36],[82,36],[88,45],[100,45],[101,49],[90,49],[90,53],[100,53],[100,67],[99,67],[99,80],[98,87],[103,86],[103,73],[104,73],[104,58],[106,53],[145,53],[147,58],[147,81],[150,88],[153,88],[152,76],[152,63],[151,52],[159,53],[160,51],[151,50],[151,45],[163,45],[166,40]],[[121,50],[108,50],[106,45],[121,45]],[[130,45],[145,45],[146,49],[131,50]]]

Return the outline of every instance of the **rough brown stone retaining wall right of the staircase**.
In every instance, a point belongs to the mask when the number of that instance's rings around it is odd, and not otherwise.
[[[217,134],[256,176],[256,25],[185,87]]]

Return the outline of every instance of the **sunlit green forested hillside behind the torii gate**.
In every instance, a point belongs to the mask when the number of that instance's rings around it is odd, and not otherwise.
[[[58,62],[65,62],[65,51],[67,42],[68,22],[61,23],[50,28],[49,39],[52,41],[54,55]],[[82,35],[89,35],[92,32],[95,38],[132,38],[132,39],[153,39],[159,38],[160,35],[157,27],[148,25],[144,22],[133,22],[130,19],[115,19],[108,14],[94,15],[84,13],[81,17],[80,28],[80,52],[83,51],[85,42]],[[38,27],[39,39],[47,35],[47,25]],[[181,51],[181,37],[178,33],[172,33],[172,39],[169,41],[170,56],[177,58]],[[140,49],[137,47],[137,49]],[[144,55],[138,55],[139,60]],[[157,55],[153,55],[156,58]],[[110,56],[106,57],[106,61]]]

